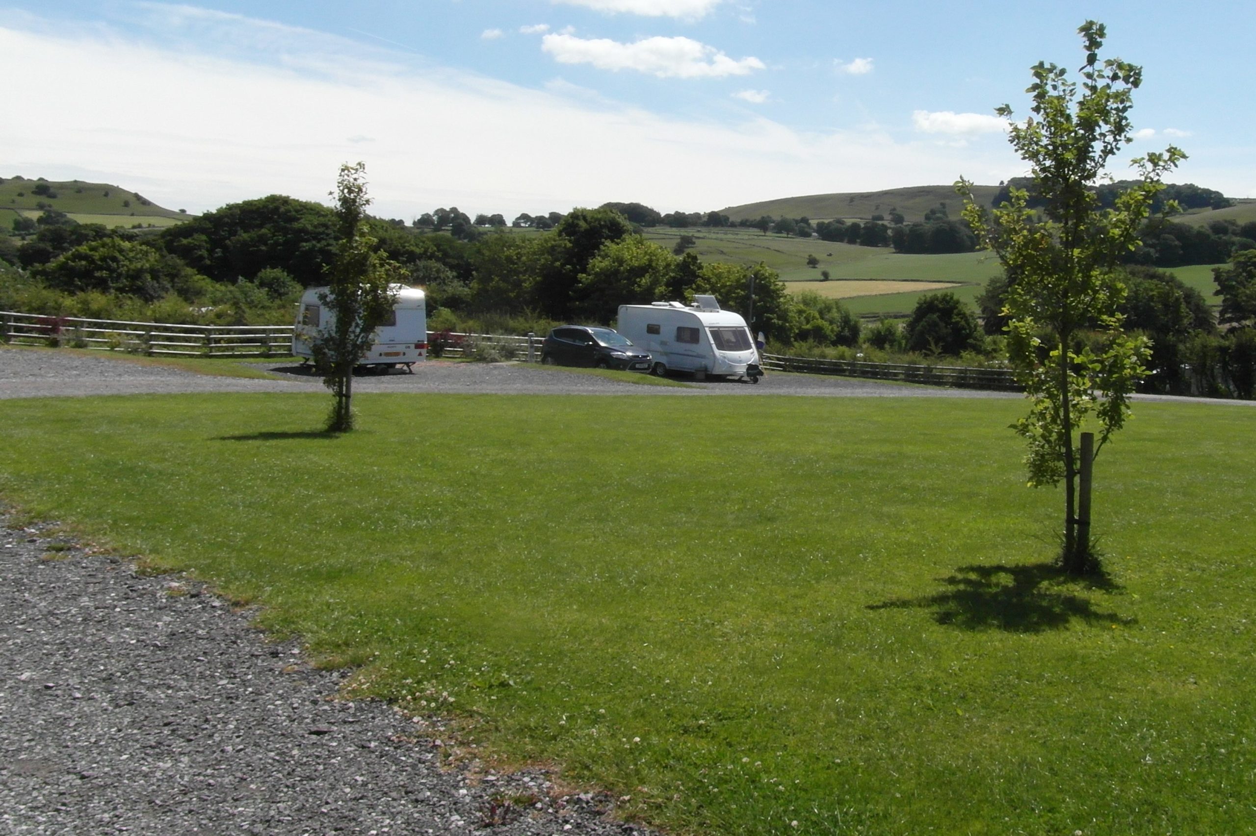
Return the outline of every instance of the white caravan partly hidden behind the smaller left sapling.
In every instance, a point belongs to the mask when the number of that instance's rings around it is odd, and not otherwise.
[[[367,349],[358,365],[404,365],[413,370],[411,367],[427,359],[427,304],[423,291],[417,287],[393,285],[392,290],[397,294],[393,315],[376,330],[376,344]],[[313,359],[310,343],[314,336],[335,323],[335,311],[319,299],[319,294],[327,291],[327,287],[309,287],[301,294],[293,329],[295,356]]]

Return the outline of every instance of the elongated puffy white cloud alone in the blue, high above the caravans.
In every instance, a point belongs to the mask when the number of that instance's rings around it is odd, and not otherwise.
[[[593,64],[598,69],[631,69],[659,78],[723,78],[764,69],[757,58],[734,60],[690,38],[646,38],[622,44],[607,38],[545,35],[541,49],[560,64]]]

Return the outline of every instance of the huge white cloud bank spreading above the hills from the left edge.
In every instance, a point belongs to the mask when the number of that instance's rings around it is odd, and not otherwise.
[[[212,54],[180,29],[139,38],[97,25],[0,26],[0,77],[23,79],[6,89],[6,108],[57,102],[75,114],[54,132],[38,119],[0,121],[5,174],[117,183],[203,212],[270,193],[327,201],[340,163],[364,159],[384,217],[450,205],[514,217],[607,201],[706,211],[810,193],[818,182],[873,191],[957,172],[1009,176],[1006,153],[883,132],[800,133],[764,118],[667,117],[570,85],[530,89],[322,33],[215,20]],[[284,58],[259,51],[263,41],[281,44]]]

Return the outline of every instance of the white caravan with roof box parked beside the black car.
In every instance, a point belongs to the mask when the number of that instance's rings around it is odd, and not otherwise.
[[[715,296],[696,296],[692,305],[654,303],[620,305],[615,330],[649,351],[653,372],[750,378],[759,383],[762,367],[755,340],[741,314],[720,310]]]

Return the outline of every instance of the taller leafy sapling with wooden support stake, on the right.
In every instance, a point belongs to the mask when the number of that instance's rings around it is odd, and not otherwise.
[[[1083,462],[1079,433],[1086,421],[1095,422],[1098,454],[1124,426],[1148,355],[1145,340],[1122,329],[1125,286],[1114,267],[1139,244],[1139,226],[1164,187],[1161,178],[1186,154],[1169,146],[1134,158],[1135,185],[1112,208],[1100,207],[1095,186],[1130,142],[1132,94],[1143,70],[1099,59],[1103,24],[1088,20],[1078,33],[1086,54],[1080,84],[1065,69],[1039,62],[1026,90],[1032,114],[1014,122],[1009,105],[996,110],[1030,166],[1041,207],[1031,208],[1029,193],[1014,188],[1007,202],[988,211],[968,181],[961,178],[956,188],[966,198],[965,220],[999,255],[1009,282],[1009,359],[1030,400],[1029,414],[1012,428],[1029,444],[1029,483],[1064,482],[1060,561],[1069,574],[1084,575],[1100,566],[1089,516],[1078,515],[1079,477],[1093,461]]]

